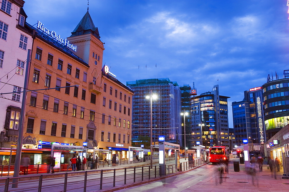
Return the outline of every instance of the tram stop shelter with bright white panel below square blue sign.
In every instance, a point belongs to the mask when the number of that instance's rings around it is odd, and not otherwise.
[[[159,145],[152,145],[152,147],[159,151],[159,165],[168,166],[168,169],[175,169],[175,171],[180,169],[180,145],[163,142]]]

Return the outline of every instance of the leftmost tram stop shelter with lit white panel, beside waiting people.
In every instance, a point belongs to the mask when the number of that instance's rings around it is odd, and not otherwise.
[[[55,157],[55,169],[61,169],[61,164],[68,164],[73,155],[80,156],[82,161],[83,156],[86,157],[86,148],[58,144],[52,144],[51,146],[51,157]]]

